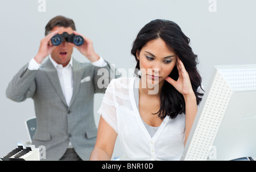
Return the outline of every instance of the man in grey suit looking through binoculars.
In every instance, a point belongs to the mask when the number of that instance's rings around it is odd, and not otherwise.
[[[94,51],[89,38],[76,32],[72,19],[56,16],[46,25],[45,35],[38,54],[10,81],[6,96],[16,102],[34,100],[37,126],[32,144],[46,147],[47,160],[89,160],[97,135],[94,93],[105,93],[115,70]],[[73,47],[90,62],[76,61]],[[97,75],[102,68],[109,75]],[[97,84],[102,77],[109,81],[103,88]]]

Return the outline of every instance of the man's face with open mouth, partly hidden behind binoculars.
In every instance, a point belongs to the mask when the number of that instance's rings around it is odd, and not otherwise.
[[[68,28],[55,27],[52,29],[51,32],[54,32],[54,31],[59,31],[58,32],[59,34],[62,34],[63,32],[67,32],[68,34],[73,33],[73,29],[71,27],[68,27]],[[68,65],[71,59],[72,53],[73,53],[73,46],[69,45],[68,42],[64,40],[59,46],[56,46],[56,48],[53,49],[51,53],[51,57],[56,63],[63,65],[63,67],[65,67]]]

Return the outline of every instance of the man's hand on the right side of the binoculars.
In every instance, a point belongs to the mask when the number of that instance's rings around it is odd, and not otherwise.
[[[77,50],[80,51],[82,55],[88,58],[90,62],[98,61],[98,59],[100,59],[100,56],[95,53],[92,40],[90,40],[88,37],[85,37],[84,35],[81,35],[79,32],[73,31],[73,33],[75,35],[82,36],[84,38],[84,44],[82,44],[81,46],[76,46],[75,44],[70,42],[68,44],[73,45]]]

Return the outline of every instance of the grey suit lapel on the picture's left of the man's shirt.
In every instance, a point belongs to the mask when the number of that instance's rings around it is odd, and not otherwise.
[[[68,106],[66,103],[64,94],[62,92],[62,89],[61,89],[60,80],[59,80],[59,76],[57,74],[56,68],[52,65],[52,62],[49,59],[42,66],[42,70],[44,70],[46,72],[49,80],[51,81],[51,83],[53,85],[53,88],[55,89],[57,94],[59,94],[61,101],[63,101],[63,103],[66,106]]]

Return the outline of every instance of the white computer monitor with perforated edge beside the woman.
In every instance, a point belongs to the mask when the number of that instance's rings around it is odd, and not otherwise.
[[[256,65],[214,66],[181,160],[256,157]]]

